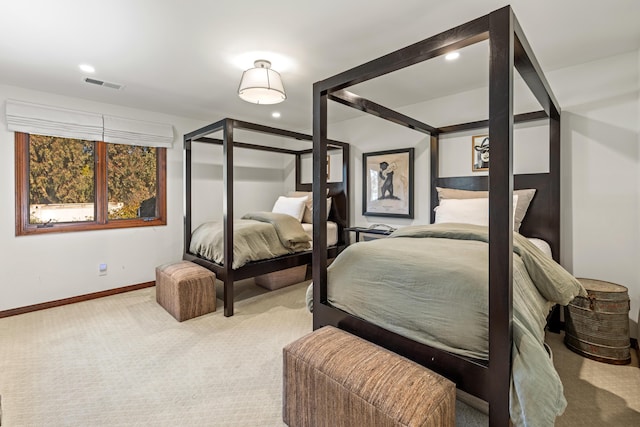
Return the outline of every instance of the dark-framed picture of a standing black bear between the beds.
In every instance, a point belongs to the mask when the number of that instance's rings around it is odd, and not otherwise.
[[[413,218],[413,148],[362,154],[362,215]]]

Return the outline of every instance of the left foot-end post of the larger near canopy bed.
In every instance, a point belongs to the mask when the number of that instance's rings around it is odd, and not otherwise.
[[[327,301],[327,93],[313,85],[313,258],[314,310]],[[348,220],[348,219],[347,219]],[[322,326],[313,316],[313,329]]]

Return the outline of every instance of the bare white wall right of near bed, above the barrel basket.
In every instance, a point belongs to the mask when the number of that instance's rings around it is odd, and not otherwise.
[[[550,73],[563,105],[562,260],[577,277],[626,286],[640,307],[638,52]]]

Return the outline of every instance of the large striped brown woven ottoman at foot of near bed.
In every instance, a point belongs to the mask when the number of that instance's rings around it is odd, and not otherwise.
[[[332,326],[284,350],[282,418],[299,426],[455,426],[456,387]]]

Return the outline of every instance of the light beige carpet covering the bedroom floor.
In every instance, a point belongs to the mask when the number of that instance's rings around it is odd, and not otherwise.
[[[183,323],[155,288],[0,319],[2,426],[283,426],[282,347],[312,329],[308,282],[236,285],[236,314]],[[569,408],[556,425],[640,425],[640,369],[550,336]],[[626,385],[623,385],[626,381]],[[457,425],[488,425],[463,403]]]

